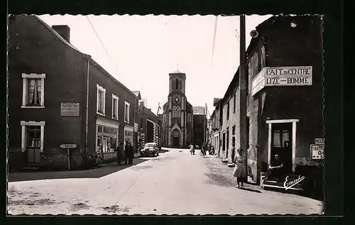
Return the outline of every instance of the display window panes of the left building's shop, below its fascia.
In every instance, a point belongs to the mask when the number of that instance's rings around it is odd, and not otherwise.
[[[117,128],[97,125],[97,152],[113,153],[118,145]]]

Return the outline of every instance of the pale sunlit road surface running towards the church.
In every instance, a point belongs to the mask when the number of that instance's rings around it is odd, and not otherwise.
[[[198,151],[198,150],[197,150]],[[171,149],[99,178],[9,183],[11,214],[318,214],[322,202],[248,186],[213,156]]]

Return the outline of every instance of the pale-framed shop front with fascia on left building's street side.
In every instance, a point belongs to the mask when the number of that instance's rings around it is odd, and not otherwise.
[[[106,119],[97,119],[97,153],[102,154],[102,160],[116,158],[116,147],[119,144],[119,123]]]

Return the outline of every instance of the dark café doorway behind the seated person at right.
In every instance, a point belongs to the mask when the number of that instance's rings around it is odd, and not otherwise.
[[[272,124],[271,160],[275,154],[284,163],[285,172],[292,172],[292,123]]]

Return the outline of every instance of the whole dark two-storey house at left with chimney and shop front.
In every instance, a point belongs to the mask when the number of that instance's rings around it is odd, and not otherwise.
[[[132,141],[138,99],[70,43],[68,26],[9,18],[9,168],[84,168],[89,153],[114,160]],[[67,149],[62,144],[76,145]]]

